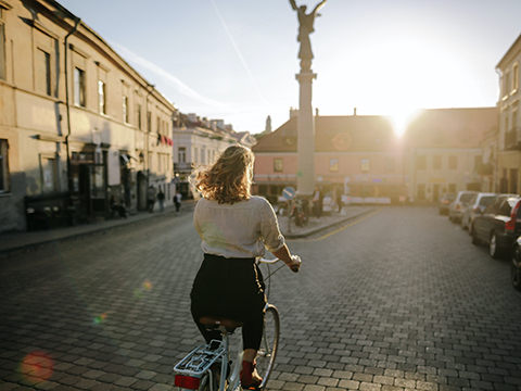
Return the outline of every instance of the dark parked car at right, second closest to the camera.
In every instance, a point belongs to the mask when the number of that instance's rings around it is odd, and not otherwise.
[[[471,227],[472,243],[488,244],[492,257],[500,257],[510,250],[513,241],[521,236],[521,224],[517,224],[519,195],[501,194],[476,215]]]

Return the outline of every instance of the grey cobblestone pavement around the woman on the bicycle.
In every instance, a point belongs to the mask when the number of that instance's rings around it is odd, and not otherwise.
[[[521,390],[521,295],[432,207],[382,207],[289,240],[272,277],[270,390]],[[0,257],[0,390],[174,390],[201,342],[191,214]]]

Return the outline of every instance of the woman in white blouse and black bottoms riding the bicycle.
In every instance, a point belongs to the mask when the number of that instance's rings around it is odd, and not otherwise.
[[[243,388],[262,382],[255,357],[266,298],[255,258],[268,249],[290,268],[297,270],[301,265],[298,256],[292,256],[284,243],[270,203],[250,193],[253,162],[252,151],[237,144],[228,147],[213,166],[200,171],[195,186],[203,197],[193,215],[204,261],[190,294],[192,316],[206,343],[220,340],[220,333],[206,330],[200,321],[202,316],[232,318],[243,324]]]

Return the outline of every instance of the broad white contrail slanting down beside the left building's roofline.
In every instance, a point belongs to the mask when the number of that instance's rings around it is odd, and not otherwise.
[[[196,100],[201,103],[213,106],[213,108],[218,108],[218,109],[226,110],[226,111],[230,110],[230,108],[228,105],[225,105],[220,102],[217,102],[217,101],[215,101],[211,98],[206,98],[206,97],[202,96],[201,93],[194,91],[193,89],[191,89],[189,86],[187,86],[185,83],[179,80],[176,76],[174,76],[169,72],[167,72],[167,71],[163,70],[162,67],[151,63],[150,61],[148,61],[148,60],[143,59],[142,56],[136,54],[135,52],[125,48],[124,46],[122,46],[119,43],[116,43],[116,42],[113,42],[113,41],[109,41],[109,43],[113,48],[115,48],[117,50],[117,52],[120,53],[125,59],[128,59],[129,61],[134,62],[135,64],[138,64],[138,65],[155,73],[156,75],[161,76],[166,81],[169,81],[170,84],[173,84],[180,93],[182,93],[187,97],[190,97],[190,98],[192,98],[192,99],[194,99],[194,100]]]

